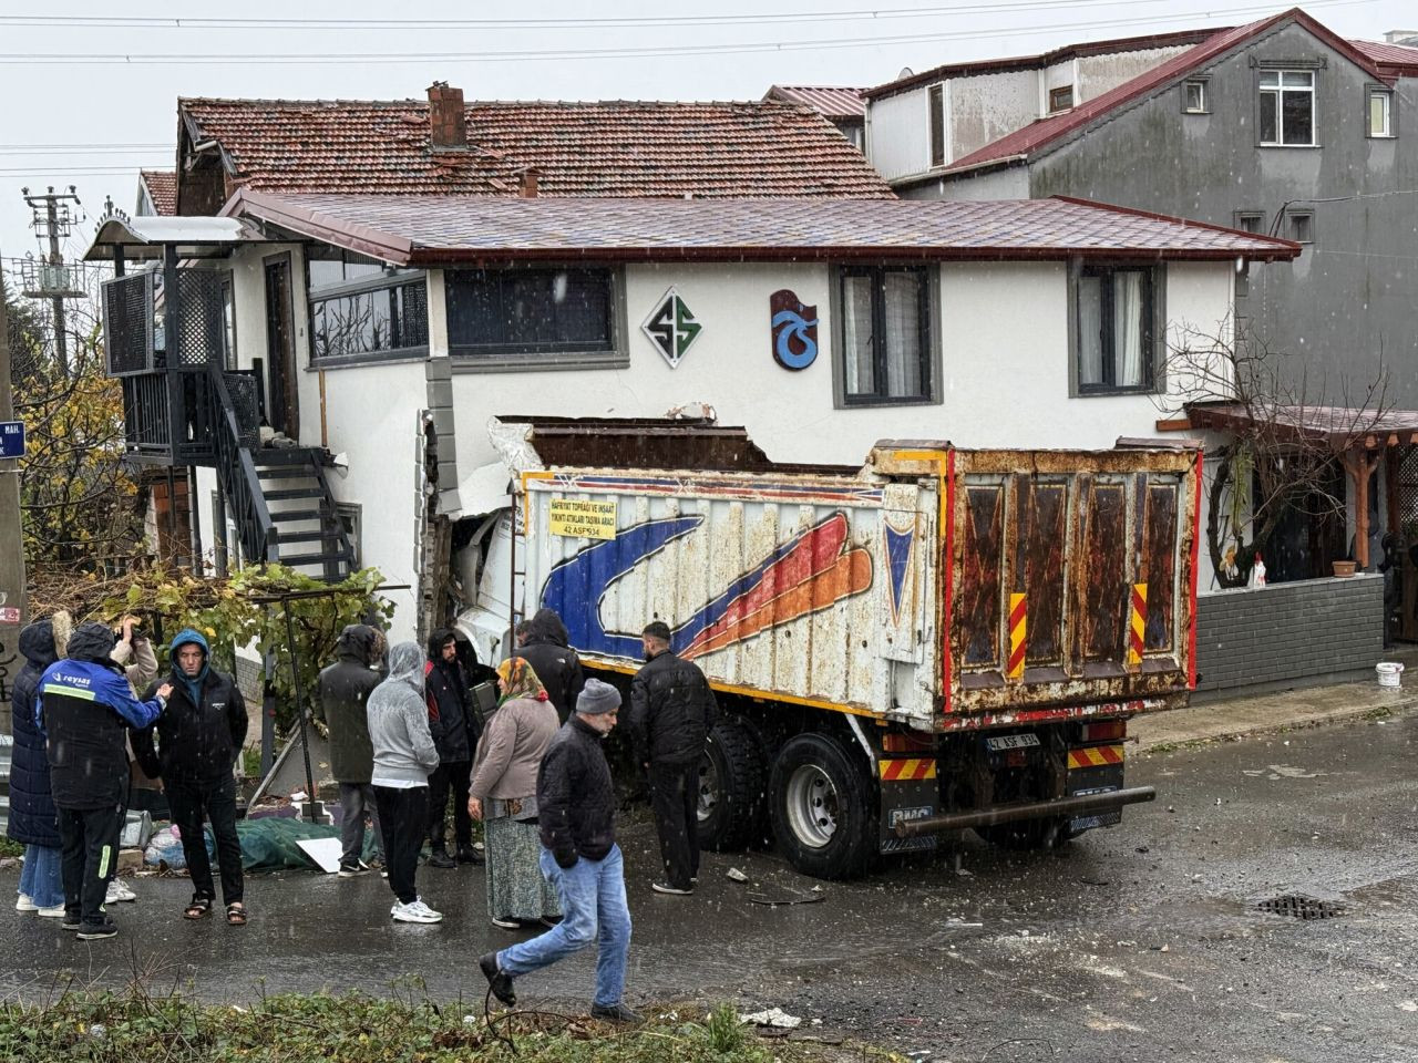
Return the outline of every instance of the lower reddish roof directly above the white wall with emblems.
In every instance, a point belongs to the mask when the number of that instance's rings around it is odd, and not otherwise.
[[[553,200],[275,196],[228,211],[397,265],[600,261],[1290,259],[1299,244],[1147,211],[1049,200]]]

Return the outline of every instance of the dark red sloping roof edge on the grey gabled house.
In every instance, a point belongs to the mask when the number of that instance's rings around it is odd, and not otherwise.
[[[1316,37],[1320,37],[1336,51],[1347,55],[1357,65],[1368,71],[1374,78],[1383,77],[1368,57],[1366,57],[1354,45],[1340,37],[1336,37],[1330,30],[1316,23],[1300,9],[1295,7],[1289,11],[1282,11],[1280,14],[1262,18],[1261,21],[1255,21],[1248,26],[1222,30],[1221,33],[1208,37],[1202,44],[1173,55],[1160,67],[1153,67],[1146,74],[1141,74],[1132,81],[1124,81],[1110,92],[1095,96],[1072,111],[1065,111],[1064,113],[1051,115],[1049,118],[1032,122],[1024,126],[1024,129],[1017,129],[1015,132],[1001,136],[998,140],[994,140],[970,154],[956,159],[942,173],[959,173],[961,170],[970,170],[988,163],[1024,159],[1045,145],[1061,140],[1069,133],[1090,125],[1095,119],[1110,113],[1123,103],[1149,96],[1190,71],[1202,67],[1232,48],[1245,44],[1252,37],[1292,20],[1303,26]]]

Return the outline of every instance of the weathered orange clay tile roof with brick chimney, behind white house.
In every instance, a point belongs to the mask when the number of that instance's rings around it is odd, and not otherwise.
[[[492,102],[467,108],[465,150],[434,152],[424,101],[183,99],[190,143],[221,145],[255,191],[891,198],[821,115],[778,103]]]

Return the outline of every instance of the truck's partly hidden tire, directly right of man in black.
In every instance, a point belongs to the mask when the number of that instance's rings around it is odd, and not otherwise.
[[[699,845],[742,849],[763,838],[769,768],[763,747],[737,720],[715,724],[699,761]]]

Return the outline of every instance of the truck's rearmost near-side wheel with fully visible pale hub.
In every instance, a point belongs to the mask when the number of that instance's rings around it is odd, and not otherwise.
[[[876,801],[865,767],[825,734],[788,738],[773,764],[773,836],[804,874],[848,879],[876,855]]]

